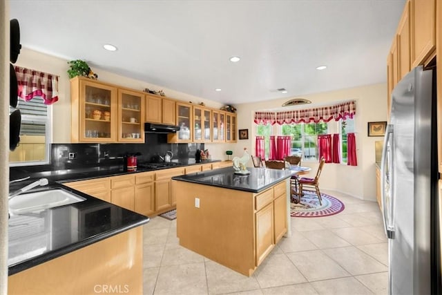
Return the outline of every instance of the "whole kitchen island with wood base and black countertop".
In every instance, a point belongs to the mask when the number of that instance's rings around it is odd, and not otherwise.
[[[291,171],[233,167],[172,178],[180,245],[251,276],[290,235]]]

